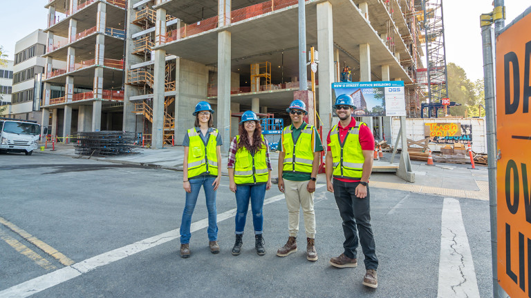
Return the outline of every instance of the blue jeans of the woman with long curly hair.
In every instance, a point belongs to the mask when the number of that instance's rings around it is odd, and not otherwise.
[[[251,201],[252,224],[254,234],[261,234],[263,230],[263,198],[265,184],[236,186],[236,234],[243,234],[249,201]]]

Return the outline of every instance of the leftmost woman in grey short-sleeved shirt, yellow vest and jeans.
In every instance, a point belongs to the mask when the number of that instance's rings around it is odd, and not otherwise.
[[[208,240],[210,252],[219,252],[218,226],[216,218],[216,190],[221,180],[221,137],[213,128],[214,110],[209,103],[201,101],[196,105],[194,128],[187,130],[183,146],[183,188],[186,191],[185,210],[180,223],[180,256],[190,256],[189,241],[192,236],[190,224],[196,206],[199,190],[203,186],[208,210]]]

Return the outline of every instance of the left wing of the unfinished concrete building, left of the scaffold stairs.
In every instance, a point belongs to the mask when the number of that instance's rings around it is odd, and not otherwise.
[[[122,130],[126,1],[48,0],[45,7],[41,106],[42,119],[51,115],[51,135]]]

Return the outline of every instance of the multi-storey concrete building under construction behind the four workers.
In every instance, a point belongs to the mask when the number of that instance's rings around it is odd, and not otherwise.
[[[206,100],[228,146],[240,112],[288,118],[300,83],[298,3],[50,0],[47,32],[69,40],[48,44],[45,57],[68,67],[47,68],[44,115],[56,115],[53,123],[65,135],[142,132],[160,148],[172,137],[180,143],[194,123],[194,106]],[[306,52],[319,52],[315,110],[325,134],[333,122],[330,85],[346,66],[352,81],[404,81],[407,115],[420,117],[419,0],[308,0],[305,6]],[[377,138],[391,134],[389,117],[364,121]]]

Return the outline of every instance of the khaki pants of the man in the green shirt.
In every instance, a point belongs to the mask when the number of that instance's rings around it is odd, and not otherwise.
[[[297,237],[299,232],[299,209],[302,206],[306,237],[315,237],[315,211],[313,210],[313,194],[306,190],[308,181],[290,181],[284,179],[284,195],[288,206],[288,229],[290,236]]]

